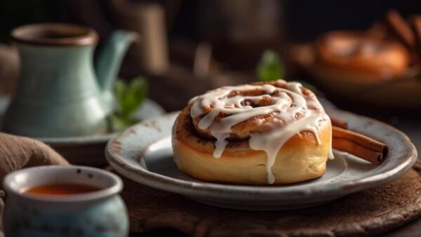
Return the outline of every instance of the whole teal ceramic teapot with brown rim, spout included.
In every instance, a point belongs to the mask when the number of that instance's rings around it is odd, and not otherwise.
[[[2,129],[29,137],[107,133],[114,79],[135,37],[133,32],[114,32],[94,69],[98,34],[93,29],[56,23],[14,29],[20,78]]]

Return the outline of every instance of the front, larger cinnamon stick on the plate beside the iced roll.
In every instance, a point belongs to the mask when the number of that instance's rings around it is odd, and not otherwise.
[[[365,135],[336,126],[333,126],[332,132],[333,148],[346,151],[371,163],[377,165],[382,163],[389,151],[386,144]]]

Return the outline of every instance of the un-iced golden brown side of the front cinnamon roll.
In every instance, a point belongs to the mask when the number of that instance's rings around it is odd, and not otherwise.
[[[279,150],[272,166],[274,184],[291,184],[321,177],[330,149],[330,122],[321,121],[318,135],[301,132]],[[196,132],[190,105],[182,109],[173,126],[175,163],[182,172],[205,181],[236,184],[268,184],[267,155],[248,146],[248,140],[232,140],[220,158],[213,156],[214,140]]]

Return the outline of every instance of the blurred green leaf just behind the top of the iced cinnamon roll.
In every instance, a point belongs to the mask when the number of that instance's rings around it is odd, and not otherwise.
[[[274,50],[265,50],[257,69],[259,81],[274,81],[283,78],[283,67]]]

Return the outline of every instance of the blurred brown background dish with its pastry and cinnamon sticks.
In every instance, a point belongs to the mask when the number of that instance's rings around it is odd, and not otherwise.
[[[391,10],[365,31],[326,32],[288,55],[337,101],[421,108],[421,15],[405,19]]]

